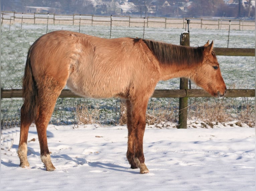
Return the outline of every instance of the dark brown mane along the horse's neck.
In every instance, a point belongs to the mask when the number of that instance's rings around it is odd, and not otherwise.
[[[138,41],[134,39],[134,43]],[[142,41],[162,64],[193,65],[202,63],[204,59],[205,47],[185,47],[145,39]]]

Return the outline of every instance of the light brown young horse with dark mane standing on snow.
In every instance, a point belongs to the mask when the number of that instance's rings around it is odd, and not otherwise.
[[[140,38],[105,39],[71,31],[53,31],[30,47],[22,85],[20,166],[29,167],[27,138],[35,123],[40,158],[47,171],[55,170],[47,145],[46,128],[57,97],[67,85],[83,97],[120,97],[126,103],[126,157],[132,169],[148,173],[143,153],[145,114],[150,96],[161,80],[185,77],[211,95],[224,96],[226,85],[213,50],[185,47]]]

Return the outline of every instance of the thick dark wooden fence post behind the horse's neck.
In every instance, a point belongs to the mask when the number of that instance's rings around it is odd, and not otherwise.
[[[189,24],[189,20],[187,20]],[[188,27],[189,31],[189,27]],[[180,35],[180,45],[189,46],[189,32],[183,32]],[[180,78],[179,89],[188,89],[188,79]],[[187,97],[179,98],[179,121],[177,128],[187,128]]]

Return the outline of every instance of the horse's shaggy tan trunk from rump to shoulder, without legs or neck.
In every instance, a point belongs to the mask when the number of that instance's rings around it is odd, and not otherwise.
[[[131,79],[142,72],[136,46],[132,38],[54,31],[32,45],[31,67],[36,81],[50,77],[82,96],[125,96]]]

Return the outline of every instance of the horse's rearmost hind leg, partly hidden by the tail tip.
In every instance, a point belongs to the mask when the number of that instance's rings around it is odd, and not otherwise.
[[[24,105],[22,105],[20,111],[20,141],[17,151],[20,158],[20,166],[22,168],[29,167],[27,160],[27,137],[29,125],[31,123],[32,121],[30,121],[30,117],[27,116],[27,113],[24,111]]]

